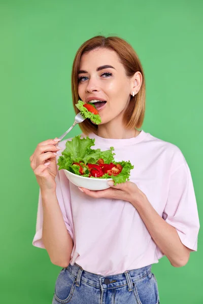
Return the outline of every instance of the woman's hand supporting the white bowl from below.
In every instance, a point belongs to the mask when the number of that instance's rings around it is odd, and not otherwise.
[[[95,199],[106,198],[124,200],[130,202],[134,207],[145,198],[145,194],[131,181],[119,183],[116,186],[113,185],[113,181],[109,181],[108,184],[111,187],[105,190],[91,191],[82,187],[79,187],[79,189]]]

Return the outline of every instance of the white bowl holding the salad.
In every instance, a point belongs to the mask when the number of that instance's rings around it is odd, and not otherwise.
[[[74,174],[70,171],[62,169],[66,177],[76,186],[83,187],[89,190],[104,190],[110,188],[108,185],[109,180],[112,178],[90,178]]]

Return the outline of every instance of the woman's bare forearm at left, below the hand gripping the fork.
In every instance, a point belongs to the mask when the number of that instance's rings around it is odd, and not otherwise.
[[[53,264],[62,268],[70,263],[73,240],[66,229],[56,192],[42,192],[42,239]]]

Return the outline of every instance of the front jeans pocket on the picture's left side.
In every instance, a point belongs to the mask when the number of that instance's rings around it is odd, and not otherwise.
[[[76,278],[64,268],[60,271],[55,284],[54,298],[59,303],[69,303],[73,297]]]

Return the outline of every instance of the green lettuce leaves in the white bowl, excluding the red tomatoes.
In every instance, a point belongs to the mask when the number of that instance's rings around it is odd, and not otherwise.
[[[94,141],[95,139],[90,139],[88,136],[81,139],[81,135],[73,137],[72,140],[67,140],[65,144],[66,148],[62,151],[62,156],[58,158],[58,170],[66,169],[72,173],[81,175],[79,172],[80,167],[73,163],[82,162],[85,165],[87,163],[96,164],[99,159],[103,159],[105,164],[120,164],[122,166],[122,171],[116,176],[110,176],[106,173],[101,177],[91,176],[90,178],[112,178],[114,180],[114,185],[129,180],[130,170],[134,168],[130,161],[115,162],[115,153],[113,153],[114,148],[110,147],[110,149],[106,151],[92,149],[91,146],[95,145]],[[89,173],[82,176],[88,177]]]

